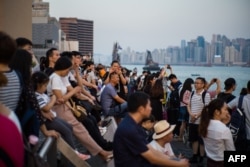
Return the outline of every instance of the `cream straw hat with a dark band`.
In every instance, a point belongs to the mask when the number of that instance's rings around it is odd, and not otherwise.
[[[161,120],[157,122],[154,126],[154,135],[153,139],[160,139],[170,132],[172,132],[175,128],[175,125],[170,125],[166,120]]]

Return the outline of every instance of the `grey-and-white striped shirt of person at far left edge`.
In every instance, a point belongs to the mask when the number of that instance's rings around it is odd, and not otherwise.
[[[8,83],[0,87],[0,102],[7,106],[11,111],[15,111],[19,96],[21,94],[21,84],[17,73],[14,70],[3,73]]]

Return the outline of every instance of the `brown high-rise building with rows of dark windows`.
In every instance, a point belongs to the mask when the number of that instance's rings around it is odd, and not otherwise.
[[[59,18],[66,41],[78,41],[79,51],[84,55],[93,55],[94,22],[77,18]]]

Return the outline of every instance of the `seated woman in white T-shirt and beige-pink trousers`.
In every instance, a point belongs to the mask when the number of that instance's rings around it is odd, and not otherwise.
[[[73,127],[73,134],[83,144],[84,147],[92,154],[99,154],[103,159],[109,160],[112,153],[103,150],[89,135],[86,128],[76,120],[71,109],[66,105],[66,102],[73,95],[81,92],[81,87],[72,87],[68,80],[68,73],[72,67],[72,62],[67,57],[60,57],[54,66],[54,73],[50,76],[50,81],[47,86],[48,95],[55,95],[59,104],[53,106],[59,118],[65,120]]]

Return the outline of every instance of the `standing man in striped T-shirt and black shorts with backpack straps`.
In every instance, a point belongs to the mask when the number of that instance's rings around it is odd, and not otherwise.
[[[204,106],[211,101],[210,94],[208,92],[205,92],[205,84],[205,78],[198,77],[195,79],[195,91],[192,92],[190,103],[187,105],[187,110],[189,113],[189,141],[192,144],[193,150],[193,157],[190,159],[190,162],[198,162],[198,148],[200,148],[199,165],[202,165],[203,157],[205,154],[204,144],[198,133],[200,116]]]

